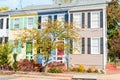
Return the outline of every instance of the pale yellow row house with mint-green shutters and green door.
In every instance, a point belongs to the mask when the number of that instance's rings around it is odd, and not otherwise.
[[[10,30],[9,30],[9,42],[14,44],[17,34],[22,31],[22,29],[32,29],[38,28],[38,15],[36,12],[32,11],[12,11],[10,15]],[[26,43],[24,47],[21,44],[21,41],[17,41],[18,46],[14,48],[14,53],[18,53],[18,60],[20,59],[33,59],[34,50],[32,49],[32,42]],[[30,50],[28,50],[28,48]]]

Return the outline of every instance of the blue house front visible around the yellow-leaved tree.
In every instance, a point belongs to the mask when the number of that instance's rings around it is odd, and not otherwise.
[[[39,26],[38,27],[38,29],[44,29],[46,26],[43,26],[42,24],[44,24],[47,20],[51,20],[51,22],[52,21],[54,21],[54,20],[58,20],[58,21],[66,21],[66,22],[68,22],[68,10],[64,10],[64,9],[62,9],[62,10],[51,10],[51,11],[42,11],[42,12],[38,12],[38,21],[39,21],[39,23],[41,24],[41,26]],[[59,40],[58,40],[59,41]],[[65,41],[65,40],[64,40]],[[64,42],[64,44],[65,44],[65,42]],[[53,61],[60,61],[60,60],[58,60],[60,57],[63,57],[62,58],[62,62],[65,62],[65,50],[64,50],[64,52],[63,52],[63,54],[64,55],[58,55],[59,54],[59,52],[58,52],[58,50],[56,49],[56,50],[53,50],[53,51],[51,51],[51,54],[52,54],[52,57],[54,57],[53,58]],[[60,57],[59,57],[60,56]],[[39,58],[40,58],[41,56],[39,56]],[[41,58],[42,59],[42,58]],[[42,60],[40,59],[40,61],[39,61],[39,63],[42,63]]]

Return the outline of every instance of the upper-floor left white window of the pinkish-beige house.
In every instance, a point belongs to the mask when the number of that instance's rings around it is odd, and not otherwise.
[[[76,21],[75,15],[79,15],[79,21]],[[76,21],[76,22],[75,22]],[[79,23],[78,23],[79,22]],[[77,23],[77,24],[76,24]],[[73,13],[73,24],[77,28],[82,28],[82,13]]]

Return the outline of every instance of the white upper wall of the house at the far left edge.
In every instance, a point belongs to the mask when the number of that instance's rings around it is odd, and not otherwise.
[[[0,29],[0,37],[2,38],[2,40],[6,40],[6,38],[8,38],[8,34],[9,34],[9,30],[7,27],[9,27],[9,25],[7,26],[7,19],[8,16],[0,16],[0,19],[3,19],[3,29]],[[8,23],[9,24],[9,23]]]

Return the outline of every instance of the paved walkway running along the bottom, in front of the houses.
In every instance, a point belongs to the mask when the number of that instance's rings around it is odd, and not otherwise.
[[[39,72],[17,73],[12,75],[0,75],[0,80],[71,80],[72,78],[96,79],[96,80],[120,80],[120,74],[94,74],[94,73],[60,73],[43,74]]]

